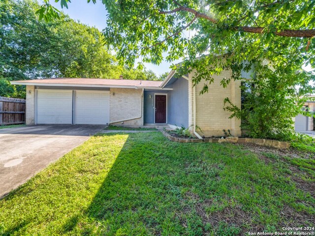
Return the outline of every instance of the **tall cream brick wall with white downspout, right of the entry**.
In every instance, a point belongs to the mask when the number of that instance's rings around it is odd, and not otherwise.
[[[193,87],[191,79],[194,71],[189,74],[189,127],[193,128]],[[209,85],[209,92],[199,94],[206,81],[201,81],[196,85],[196,125],[201,128],[203,133],[197,130],[201,136],[221,136],[223,129],[229,129],[233,136],[241,136],[241,120],[229,118],[230,112],[223,110],[223,101],[226,97],[240,107],[241,106],[241,81],[231,81],[223,88],[220,85],[221,79],[231,77],[231,71],[222,71],[221,75],[214,75],[214,82]]]

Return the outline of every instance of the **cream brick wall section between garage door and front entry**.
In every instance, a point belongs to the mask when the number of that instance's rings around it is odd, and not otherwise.
[[[143,125],[142,89],[110,89],[110,123],[121,126]],[[138,118],[140,117],[141,118]],[[126,120],[130,119],[130,120]],[[126,120],[126,121],[122,121]]]

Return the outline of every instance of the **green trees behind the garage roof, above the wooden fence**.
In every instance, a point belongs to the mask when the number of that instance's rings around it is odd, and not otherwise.
[[[118,63],[98,29],[75,22],[63,13],[44,22],[32,0],[0,2],[0,96],[25,97],[23,86],[10,80],[83,77],[158,80],[150,70]]]

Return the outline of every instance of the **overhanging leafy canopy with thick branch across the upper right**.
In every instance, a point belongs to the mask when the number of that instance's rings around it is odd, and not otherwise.
[[[60,2],[62,7],[68,7],[70,1]],[[159,64],[166,53],[167,61],[183,59],[183,63],[173,65],[173,69],[182,74],[197,71],[195,83],[201,79],[211,83],[211,75],[223,69],[231,69],[232,79],[239,79],[242,70],[249,71],[253,65],[263,67],[266,61],[264,68],[268,73],[279,76],[285,76],[284,71],[300,70],[304,64],[315,66],[315,1],[102,2],[108,11],[103,32],[106,43],[117,51],[117,58],[129,66],[139,57],[142,62]],[[48,0],[44,0],[37,13],[46,20],[58,16],[58,10],[52,8]],[[141,62],[139,64],[141,67]],[[298,74],[300,76],[294,76],[295,81],[313,79],[311,73]],[[227,79],[222,84],[228,82]],[[201,92],[207,89],[206,83]]]

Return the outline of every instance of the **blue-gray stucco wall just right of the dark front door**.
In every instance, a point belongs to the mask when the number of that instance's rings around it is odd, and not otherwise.
[[[168,96],[167,123],[188,128],[188,81],[177,79]]]

